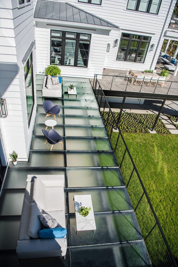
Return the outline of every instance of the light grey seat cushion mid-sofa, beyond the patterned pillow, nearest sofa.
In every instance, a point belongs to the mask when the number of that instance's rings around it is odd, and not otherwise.
[[[65,210],[63,187],[45,188],[45,200],[43,210]]]

